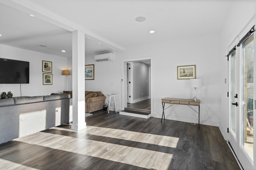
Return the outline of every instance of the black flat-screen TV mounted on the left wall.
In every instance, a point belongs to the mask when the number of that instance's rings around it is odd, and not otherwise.
[[[29,62],[0,59],[0,84],[28,84]]]

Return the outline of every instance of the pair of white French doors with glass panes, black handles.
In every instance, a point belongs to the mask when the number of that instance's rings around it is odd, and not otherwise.
[[[256,169],[254,146],[254,39],[252,33],[230,55],[228,142],[244,169]],[[233,44],[234,45],[234,44]]]

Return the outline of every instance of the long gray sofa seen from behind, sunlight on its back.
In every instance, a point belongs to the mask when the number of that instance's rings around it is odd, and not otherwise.
[[[0,143],[71,121],[68,94],[0,99]]]

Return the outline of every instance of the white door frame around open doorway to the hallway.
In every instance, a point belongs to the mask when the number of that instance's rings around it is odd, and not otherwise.
[[[146,57],[138,57],[138,58],[131,58],[131,59],[122,59],[121,61],[121,78],[122,78],[122,84],[121,84],[121,110],[124,110],[124,107],[127,106],[127,74],[126,74],[126,68],[128,62],[135,62],[135,61],[143,61],[143,60],[150,60],[151,63],[151,74],[150,74],[150,84],[151,84],[151,115],[154,111],[154,84],[153,84],[153,73],[154,73],[154,62],[153,62],[153,56],[146,56]]]

